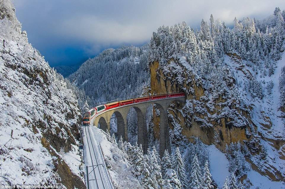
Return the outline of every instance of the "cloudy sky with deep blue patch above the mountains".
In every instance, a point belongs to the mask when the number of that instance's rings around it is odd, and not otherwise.
[[[284,0],[14,0],[29,42],[51,66],[83,63],[106,48],[148,43],[160,25],[199,28],[210,14],[228,26],[234,17],[262,19]]]

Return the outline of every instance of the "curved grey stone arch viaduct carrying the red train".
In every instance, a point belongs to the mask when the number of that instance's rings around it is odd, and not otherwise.
[[[180,93],[181,94],[181,93]],[[134,108],[137,112],[137,143],[142,144],[143,151],[146,152],[148,149],[148,132],[146,126],[146,113],[147,108],[152,104],[156,105],[160,111],[160,123],[159,123],[159,154],[163,155],[164,150],[168,149],[170,151],[170,139],[169,139],[169,125],[167,117],[167,109],[169,105],[174,102],[181,103],[182,107],[185,105],[185,95],[172,96],[167,95],[166,98],[148,100],[143,102],[132,103],[124,106],[115,107],[109,110],[102,111],[95,115],[95,117],[90,120],[90,124],[93,126],[98,126],[100,124],[100,129],[103,131],[110,132],[110,119],[113,114],[117,117],[117,135],[118,139],[120,136],[123,141],[128,141],[128,128],[127,128],[127,115],[131,108]]]

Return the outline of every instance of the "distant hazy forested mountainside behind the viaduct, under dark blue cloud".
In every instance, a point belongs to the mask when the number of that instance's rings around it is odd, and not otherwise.
[[[68,79],[98,102],[140,96],[149,84],[148,46],[107,49],[84,62]]]

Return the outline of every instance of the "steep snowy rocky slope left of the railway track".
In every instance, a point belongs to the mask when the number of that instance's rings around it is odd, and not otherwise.
[[[0,7],[0,185],[85,188],[76,96],[28,43],[12,3]]]

